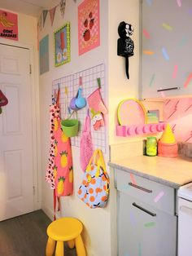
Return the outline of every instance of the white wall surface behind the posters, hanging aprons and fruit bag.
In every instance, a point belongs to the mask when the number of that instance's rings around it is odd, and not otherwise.
[[[76,73],[82,69],[89,68],[103,61],[107,69],[107,4],[108,1],[100,1],[101,17],[101,46],[84,55],[78,55],[78,26],[77,26],[77,6],[82,1],[66,1],[64,19],[62,19],[57,7],[53,27],[50,25],[50,16],[47,15],[45,27],[40,31],[40,39],[47,33],[50,37],[50,72],[40,76],[40,102],[41,102],[41,171],[44,172],[42,179],[42,209],[52,217],[53,192],[49,184],[45,182],[46,165],[50,147],[50,117],[49,105],[51,104],[51,84],[55,78],[63,77],[70,73]],[[60,67],[54,67],[53,32],[59,29],[65,22],[70,21],[71,27],[71,62]],[[107,71],[106,71],[107,75]],[[106,84],[108,82],[106,81]],[[110,244],[110,208],[91,210],[84,205],[76,196],[77,189],[82,179],[80,168],[79,148],[72,147],[73,170],[74,170],[74,193],[73,196],[61,198],[62,216],[73,216],[79,218],[84,223],[85,229],[83,239],[89,256],[111,255]],[[107,159],[107,158],[106,158]]]

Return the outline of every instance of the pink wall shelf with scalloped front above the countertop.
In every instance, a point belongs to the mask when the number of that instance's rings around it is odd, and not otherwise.
[[[136,126],[116,126],[116,135],[121,137],[150,135],[163,131],[165,126],[166,122],[164,121],[155,124],[143,124]]]

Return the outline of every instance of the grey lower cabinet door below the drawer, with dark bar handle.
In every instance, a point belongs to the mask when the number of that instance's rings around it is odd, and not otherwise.
[[[177,217],[118,193],[119,256],[175,256]]]

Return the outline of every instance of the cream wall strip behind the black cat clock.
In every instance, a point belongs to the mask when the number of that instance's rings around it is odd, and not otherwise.
[[[124,57],[117,55],[117,29],[121,21],[133,25],[134,55],[129,58],[129,80]],[[116,137],[116,109],[122,99],[137,98],[139,90],[139,0],[109,1],[109,143],[129,141]]]

